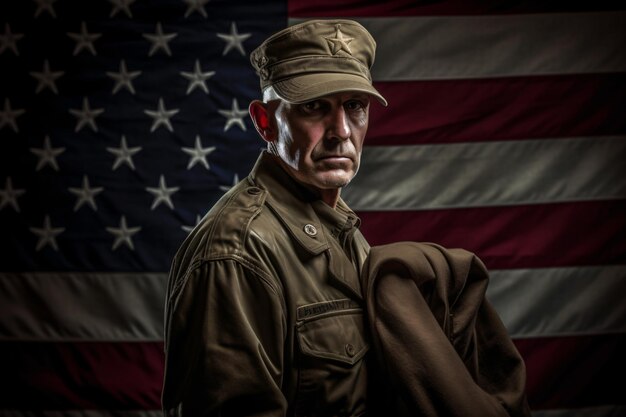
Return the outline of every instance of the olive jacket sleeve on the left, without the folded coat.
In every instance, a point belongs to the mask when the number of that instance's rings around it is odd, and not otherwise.
[[[235,260],[203,262],[166,304],[166,416],[286,413],[285,318],[280,290]]]

